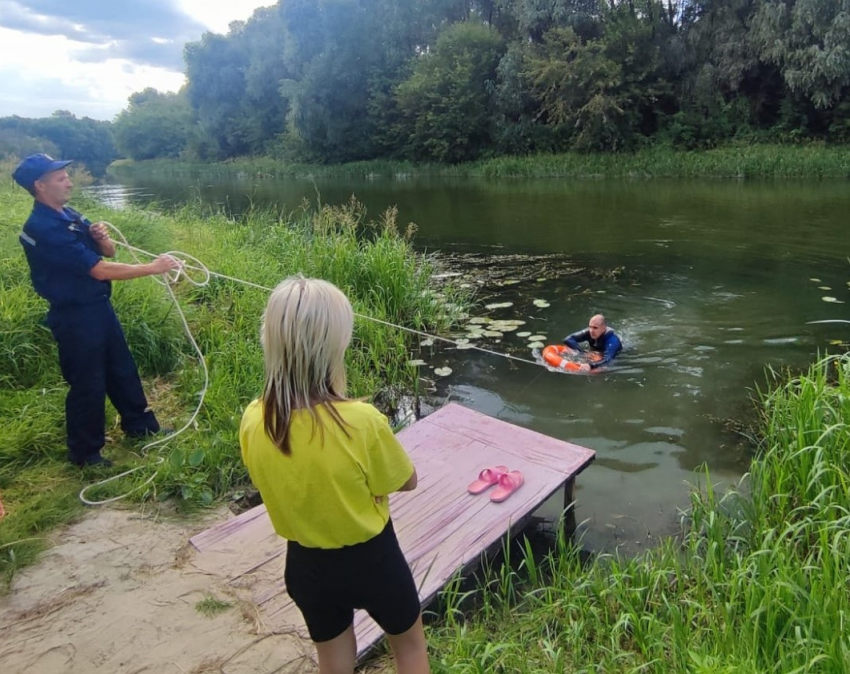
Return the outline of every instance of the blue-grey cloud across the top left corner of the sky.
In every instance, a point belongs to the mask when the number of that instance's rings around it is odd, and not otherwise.
[[[127,59],[183,69],[183,45],[203,24],[170,0],[0,0],[0,27],[81,43],[76,60]]]

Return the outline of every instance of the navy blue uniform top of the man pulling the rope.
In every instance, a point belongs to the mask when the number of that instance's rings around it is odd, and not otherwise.
[[[56,211],[36,201],[20,234],[35,291],[51,309],[107,301],[109,281],[91,276],[100,248],[89,234],[91,223],[73,208]]]

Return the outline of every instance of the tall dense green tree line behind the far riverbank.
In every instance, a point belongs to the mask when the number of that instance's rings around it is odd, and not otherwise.
[[[184,55],[114,120],[125,156],[850,141],[848,0],[281,0]]]

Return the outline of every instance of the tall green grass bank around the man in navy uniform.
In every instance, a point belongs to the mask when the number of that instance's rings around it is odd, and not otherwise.
[[[51,528],[79,514],[79,490],[111,474],[80,471],[65,460],[66,388],[43,325],[47,305],[31,288],[17,241],[32,201],[13,185],[10,172],[0,167],[0,493],[7,511],[0,525],[0,577],[6,580],[35,558]],[[153,253],[182,250],[215,272],[261,286],[273,287],[295,272],[326,278],[349,294],[358,314],[408,327],[444,329],[465,301],[448,297],[450,289],[434,291],[430,263],[413,252],[408,233],[396,230],[392,212],[369,222],[355,202],[285,216],[254,212],[239,221],[202,218],[189,208],[169,215],[111,212],[96,204],[82,204],[82,210],[117,225],[134,246]],[[119,260],[132,261],[124,251]],[[153,279],[113,289],[148,397],[162,422],[180,427],[197,404],[203,377],[172,302]],[[267,293],[220,278],[201,287],[183,281],[176,293],[210,369],[200,415],[193,430],[143,456],[143,443],[123,437],[110,409],[104,454],[123,467],[145,468],[89,498],[124,493],[154,474],[134,498],[194,506],[238,498],[248,486],[237,430],[242,409],[262,386],[258,336]],[[357,319],[349,393],[377,399],[392,412],[418,382],[408,365],[409,342],[407,333]]]

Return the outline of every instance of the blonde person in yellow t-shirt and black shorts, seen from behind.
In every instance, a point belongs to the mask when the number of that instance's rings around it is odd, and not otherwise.
[[[354,325],[345,295],[288,278],[262,326],[265,386],[239,429],[242,460],[286,550],[286,588],[319,656],[319,673],[353,672],[354,609],[387,633],[400,674],[430,672],[419,595],[387,496],[416,471],[384,417],[345,397]]]

